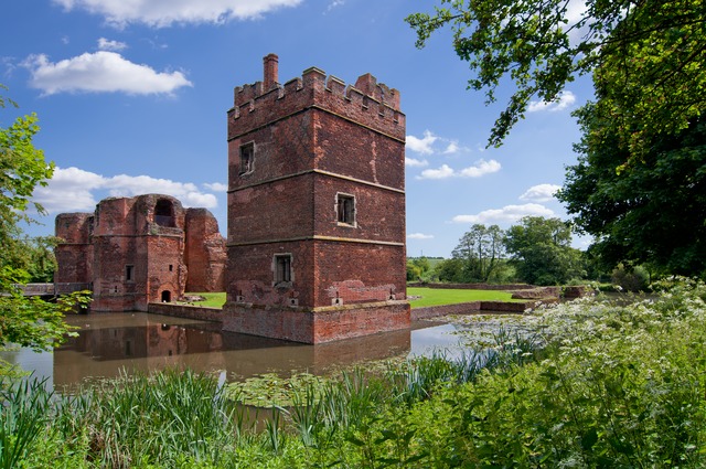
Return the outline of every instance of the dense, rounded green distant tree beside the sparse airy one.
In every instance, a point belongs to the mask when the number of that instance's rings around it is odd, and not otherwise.
[[[525,216],[507,230],[505,247],[528,284],[561,285],[585,276],[581,253],[571,247],[571,227],[559,218]]]

